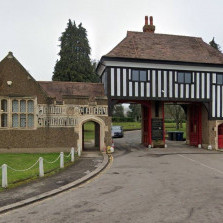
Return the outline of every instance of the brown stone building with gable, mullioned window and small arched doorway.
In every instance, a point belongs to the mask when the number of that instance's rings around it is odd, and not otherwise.
[[[95,125],[95,147],[111,144],[103,84],[35,81],[10,52],[0,62],[0,152],[84,149],[83,126]]]

